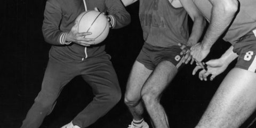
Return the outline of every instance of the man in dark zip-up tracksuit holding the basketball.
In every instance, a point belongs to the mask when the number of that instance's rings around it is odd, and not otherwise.
[[[119,0],[48,0],[45,6],[43,35],[52,44],[42,89],[28,111],[22,128],[39,127],[54,108],[62,88],[75,76],[92,87],[95,97],[70,123],[63,128],[87,127],[105,115],[121,98],[115,70],[105,45],[93,45],[88,33],[78,33],[76,17],[84,11],[108,12],[111,28],[130,23],[130,14]],[[84,38],[85,36],[85,38]]]

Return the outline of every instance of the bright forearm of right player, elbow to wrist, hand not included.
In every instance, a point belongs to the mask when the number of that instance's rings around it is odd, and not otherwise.
[[[236,0],[235,0],[236,1]],[[212,16],[210,25],[202,41],[204,49],[210,49],[217,39],[228,28],[237,11],[237,3],[233,0],[212,0]]]

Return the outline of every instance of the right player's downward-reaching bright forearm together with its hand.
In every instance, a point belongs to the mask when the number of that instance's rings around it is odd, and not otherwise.
[[[210,25],[203,41],[191,47],[191,55],[201,62],[210,52],[212,45],[230,25],[238,9],[237,0],[209,0],[213,5]]]

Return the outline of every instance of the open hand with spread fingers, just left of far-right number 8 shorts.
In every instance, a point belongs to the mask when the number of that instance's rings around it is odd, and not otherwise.
[[[207,70],[203,69],[199,72],[198,77],[201,79],[201,81],[207,81],[207,76],[211,74],[210,80],[212,81],[216,76],[221,74],[225,69],[228,67],[228,63],[226,61],[223,61],[221,59],[214,59],[209,60],[206,62]],[[196,66],[193,70],[192,75],[195,75],[196,72],[202,69],[201,66]]]

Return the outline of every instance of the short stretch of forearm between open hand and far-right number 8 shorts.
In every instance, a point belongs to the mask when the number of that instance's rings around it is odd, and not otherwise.
[[[221,61],[227,63],[227,65],[238,57],[238,55],[233,52],[233,49],[234,47],[230,46],[229,49],[221,55]]]

